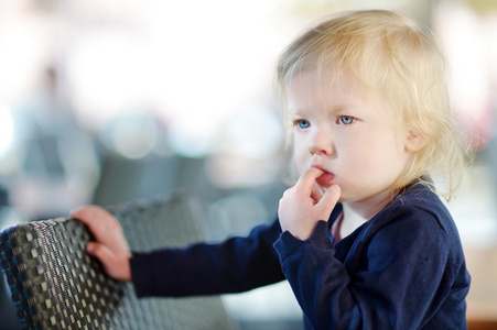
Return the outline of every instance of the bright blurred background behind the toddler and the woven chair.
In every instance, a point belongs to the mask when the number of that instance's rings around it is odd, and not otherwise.
[[[468,318],[497,320],[497,0],[0,0],[0,230],[179,188],[208,240],[271,221],[289,158],[277,56],[323,15],[370,8],[431,26],[451,61],[477,158],[449,207]],[[225,301],[242,329],[302,329],[285,283]]]

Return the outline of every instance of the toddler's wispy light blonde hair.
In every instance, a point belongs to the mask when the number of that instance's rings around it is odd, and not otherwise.
[[[332,15],[291,43],[280,55],[277,82],[283,114],[285,88],[303,70],[339,68],[361,87],[379,92],[400,124],[425,144],[393,189],[426,176],[442,177],[447,200],[461,184],[466,151],[451,110],[445,56],[431,32],[406,15],[385,10]]]

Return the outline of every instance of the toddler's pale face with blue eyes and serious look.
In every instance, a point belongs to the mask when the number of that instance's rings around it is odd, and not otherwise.
[[[321,188],[336,184],[342,201],[374,204],[390,196],[409,164],[408,134],[393,130],[379,96],[354,87],[343,74],[332,80],[335,73],[302,72],[288,86],[296,169],[302,175],[318,167]]]

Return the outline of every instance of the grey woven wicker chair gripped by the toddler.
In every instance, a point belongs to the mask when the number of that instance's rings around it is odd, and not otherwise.
[[[181,246],[201,237],[199,205],[185,194],[108,209],[132,250]],[[0,262],[22,329],[235,329],[220,297],[138,299],[85,252],[75,219],[22,223],[0,234]]]

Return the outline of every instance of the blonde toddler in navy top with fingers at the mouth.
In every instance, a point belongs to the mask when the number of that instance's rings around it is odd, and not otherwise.
[[[300,177],[272,224],[133,255],[111,215],[83,207],[88,252],[140,297],[288,279],[306,329],[466,328],[469,275],[439,198],[455,191],[464,151],[430,33],[390,11],[335,14],[282,53],[278,84]]]

